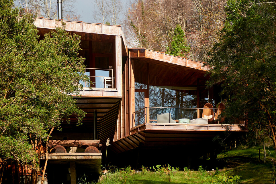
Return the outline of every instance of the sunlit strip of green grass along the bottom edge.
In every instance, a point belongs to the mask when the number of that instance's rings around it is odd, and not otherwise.
[[[172,171],[172,170],[171,170]],[[175,171],[175,175],[169,180],[169,174],[167,167],[162,167],[159,171],[149,171],[144,169],[144,171],[136,173],[131,170],[130,167],[122,170],[113,171],[106,175],[101,176],[99,183],[125,183],[125,184],[165,184],[165,183],[220,183],[218,182],[219,177],[227,178],[233,172],[229,170],[224,171],[190,171],[185,169],[185,171]]]

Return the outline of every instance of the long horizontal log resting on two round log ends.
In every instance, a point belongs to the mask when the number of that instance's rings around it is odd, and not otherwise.
[[[101,147],[99,140],[50,140],[48,143],[49,148],[53,148],[57,145],[79,148],[87,148],[88,146]]]

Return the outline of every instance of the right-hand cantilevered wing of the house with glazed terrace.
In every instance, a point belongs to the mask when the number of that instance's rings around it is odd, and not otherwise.
[[[117,123],[111,146],[115,152],[126,152],[141,146],[149,149],[172,145],[201,147],[212,144],[212,139],[225,131],[231,131],[233,134],[247,131],[245,122],[239,121],[233,125],[222,124],[218,120],[205,124],[179,123],[181,118],[201,118],[203,105],[209,100],[214,106],[214,112],[217,110],[216,105],[220,103],[220,87],[206,87],[208,76],[205,74],[208,66],[203,62],[145,48],[128,49],[128,55],[123,99],[127,108],[122,109],[126,112],[126,117],[124,124]],[[166,90],[167,93],[164,93]],[[151,95],[158,92],[162,95],[151,98]],[[171,102],[168,100],[171,97],[167,95],[172,92],[180,96],[187,95],[177,97],[181,102]],[[190,103],[193,104],[190,107],[185,104],[186,97],[191,97]],[[159,103],[159,106],[152,108],[160,109],[151,110],[150,106],[156,103]],[[166,111],[165,108],[169,110]],[[158,122],[156,116],[159,113],[169,113],[174,123]]]

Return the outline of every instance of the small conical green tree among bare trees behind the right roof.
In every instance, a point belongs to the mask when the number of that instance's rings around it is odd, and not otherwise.
[[[180,25],[177,25],[173,31],[171,46],[167,47],[166,54],[185,57],[189,51],[190,46],[187,45],[184,31],[181,29]]]

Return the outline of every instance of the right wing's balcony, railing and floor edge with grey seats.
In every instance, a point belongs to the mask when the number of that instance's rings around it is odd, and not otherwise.
[[[218,116],[215,115],[217,118],[215,120],[203,119],[201,118],[203,110],[204,108],[145,107],[133,113],[134,123],[131,132],[145,129],[225,131],[226,127],[233,131],[243,131],[245,128],[245,121],[237,121],[230,126],[223,124],[223,121],[219,121]],[[224,109],[210,108],[208,110],[218,112]]]

